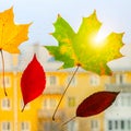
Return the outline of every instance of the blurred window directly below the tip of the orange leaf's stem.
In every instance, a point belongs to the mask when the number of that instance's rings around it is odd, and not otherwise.
[[[3,98],[1,102],[1,108],[4,110],[11,109],[11,100],[9,98]]]

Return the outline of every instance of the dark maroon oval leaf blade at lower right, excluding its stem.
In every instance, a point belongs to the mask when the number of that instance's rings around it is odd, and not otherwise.
[[[76,109],[76,117],[90,117],[108,108],[119,92],[97,92],[85,98]]]

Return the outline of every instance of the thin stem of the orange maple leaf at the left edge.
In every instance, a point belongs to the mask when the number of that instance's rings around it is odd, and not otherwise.
[[[5,91],[5,80],[4,80],[4,58],[3,58],[3,52],[2,52],[2,49],[0,49],[0,52],[1,52],[1,58],[2,58],[2,82],[3,82],[3,91],[4,91],[4,94],[5,96],[8,96],[7,94],[7,91]]]

